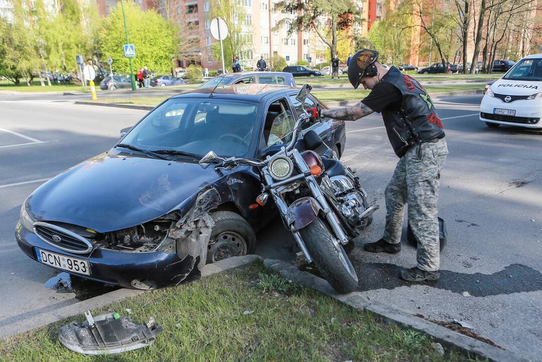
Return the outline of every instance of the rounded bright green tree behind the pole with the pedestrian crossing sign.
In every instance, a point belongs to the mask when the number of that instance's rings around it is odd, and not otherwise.
[[[177,58],[178,55],[179,28],[164,20],[154,10],[144,12],[133,1],[126,1],[124,10],[130,43],[135,46],[136,55],[133,58],[135,68],[148,66],[156,72],[169,72],[173,58]],[[122,52],[122,45],[125,43],[122,11],[117,7],[105,19],[99,35],[101,58],[107,59],[111,56],[113,68],[117,72],[130,71],[128,58]]]

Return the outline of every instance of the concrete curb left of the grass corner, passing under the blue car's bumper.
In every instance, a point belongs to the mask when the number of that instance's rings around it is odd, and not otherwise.
[[[261,257],[257,255],[237,256],[224,259],[220,262],[216,262],[213,264],[208,264],[205,265],[202,270],[202,277],[218,274],[225,270],[238,268],[243,265],[254,263],[257,259],[261,259]],[[69,306],[59,308],[57,310],[54,310],[53,312],[43,313],[32,317],[29,320],[19,321],[12,325],[2,327],[2,329],[0,330],[0,339],[6,338],[10,335],[27,332],[30,331],[30,329],[43,327],[45,325],[48,325],[49,323],[57,322],[64,318],[83,313],[88,309],[102,307],[106,304],[145,292],[145,290],[137,289],[119,289],[81,302],[70,304]]]

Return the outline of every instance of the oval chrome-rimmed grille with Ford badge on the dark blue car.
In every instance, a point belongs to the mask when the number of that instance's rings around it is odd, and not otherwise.
[[[34,223],[34,231],[44,242],[60,250],[86,254],[93,248],[92,243],[87,239],[60,226],[39,221]]]

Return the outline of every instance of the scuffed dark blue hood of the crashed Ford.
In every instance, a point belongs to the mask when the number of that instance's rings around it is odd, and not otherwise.
[[[144,157],[101,154],[44,183],[27,201],[37,220],[98,232],[160,217],[219,178],[213,167]]]

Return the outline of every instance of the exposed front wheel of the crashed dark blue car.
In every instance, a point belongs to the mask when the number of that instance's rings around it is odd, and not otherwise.
[[[231,211],[210,213],[215,221],[207,247],[206,264],[254,252],[256,234],[241,215]]]

